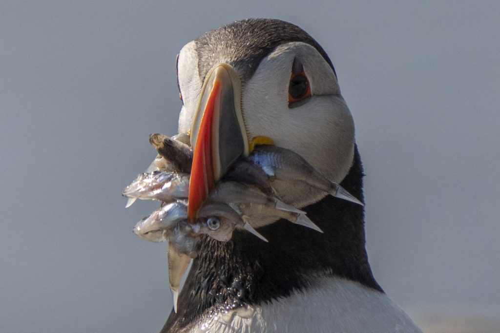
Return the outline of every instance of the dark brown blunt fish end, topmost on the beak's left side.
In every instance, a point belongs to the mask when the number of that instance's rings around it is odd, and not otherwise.
[[[192,152],[189,145],[159,133],[150,134],[149,143],[165,161],[172,165],[175,171],[191,172]],[[165,165],[168,164],[165,162]]]

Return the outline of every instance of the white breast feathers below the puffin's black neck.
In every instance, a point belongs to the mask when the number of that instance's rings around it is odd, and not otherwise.
[[[421,332],[384,293],[342,278],[254,308],[218,313],[191,332]]]

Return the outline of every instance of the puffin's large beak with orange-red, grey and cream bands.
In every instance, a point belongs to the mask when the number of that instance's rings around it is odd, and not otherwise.
[[[241,114],[241,81],[228,64],[218,64],[206,75],[191,126],[193,158],[187,216],[196,213],[217,180],[241,155],[248,155],[248,138]]]

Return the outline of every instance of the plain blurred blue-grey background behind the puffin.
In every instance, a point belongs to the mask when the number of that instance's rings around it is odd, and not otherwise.
[[[42,3],[43,2],[43,3]],[[165,244],[121,189],[173,134],[175,54],[245,17],[330,55],[374,274],[406,310],[500,305],[500,2],[0,0],[0,331],[156,331]]]

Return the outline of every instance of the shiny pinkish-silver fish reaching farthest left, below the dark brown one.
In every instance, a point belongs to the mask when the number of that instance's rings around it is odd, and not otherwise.
[[[189,174],[155,170],[139,174],[123,189],[121,195],[168,202],[175,198],[186,198],[188,189]]]

